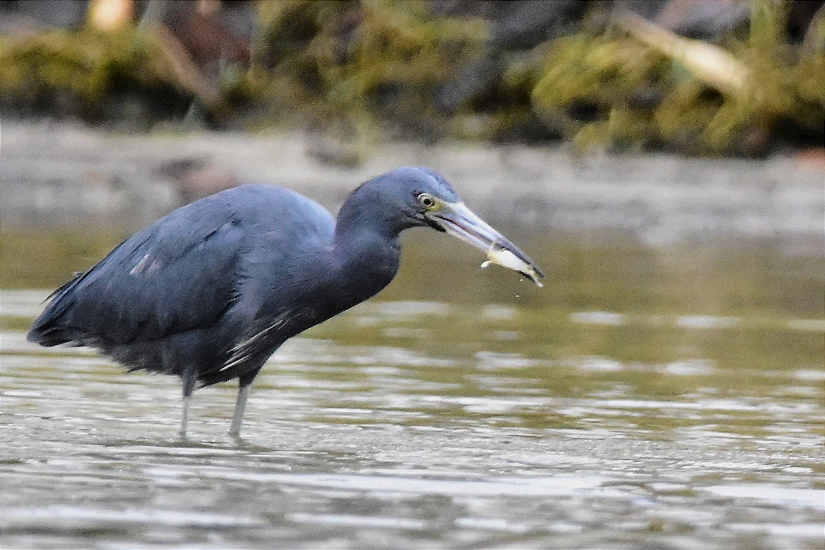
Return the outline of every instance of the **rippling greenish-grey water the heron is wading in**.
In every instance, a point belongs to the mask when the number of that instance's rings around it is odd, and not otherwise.
[[[410,237],[237,443],[233,385],[181,442],[176,380],[25,342],[111,237],[3,235],[0,546],[823,548],[821,251],[522,238],[536,289]]]

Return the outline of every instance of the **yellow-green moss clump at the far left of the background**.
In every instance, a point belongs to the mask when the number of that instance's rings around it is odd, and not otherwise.
[[[177,115],[191,102],[158,55],[152,36],[127,28],[84,28],[0,36],[0,95],[16,114],[92,123]]]

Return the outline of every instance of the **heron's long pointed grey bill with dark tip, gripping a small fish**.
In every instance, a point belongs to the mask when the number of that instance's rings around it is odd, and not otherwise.
[[[541,286],[539,279],[544,277],[544,272],[535,265],[535,261],[521,251],[521,248],[510,242],[507,237],[475,215],[472,210],[464,206],[464,203],[444,203],[440,209],[431,210],[426,215],[450,235],[485,251],[487,261],[481,265],[482,267],[490,264],[507,267],[507,269],[518,271]]]

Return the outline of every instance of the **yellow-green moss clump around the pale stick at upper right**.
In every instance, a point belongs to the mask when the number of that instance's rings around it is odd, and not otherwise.
[[[628,35],[568,36],[547,52],[533,105],[545,124],[580,148],[761,153],[784,123],[813,132],[820,125],[821,132],[825,117],[825,54],[791,48],[784,28],[781,4],[753,2],[750,34],[726,45],[749,75],[735,92],[715,90],[681,59]],[[639,107],[644,90],[660,98]],[[576,118],[582,105],[594,120]]]

